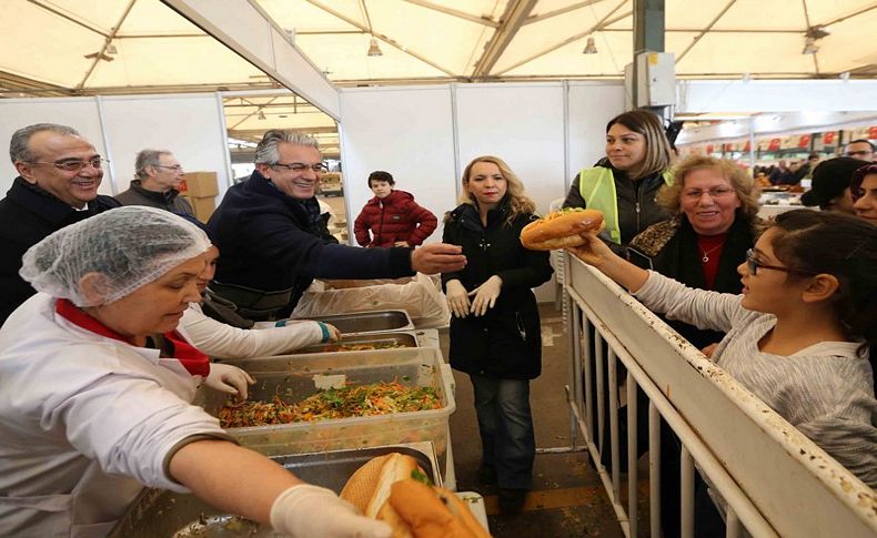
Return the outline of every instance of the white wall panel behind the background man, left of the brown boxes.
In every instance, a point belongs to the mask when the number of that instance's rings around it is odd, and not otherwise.
[[[104,130],[121,190],[134,177],[140,150],[170,150],[187,171],[216,172],[222,197],[229,185],[225,132],[210,94],[103,98]]]

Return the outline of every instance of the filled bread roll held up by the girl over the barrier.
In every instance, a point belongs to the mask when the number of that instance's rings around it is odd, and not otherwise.
[[[552,211],[521,231],[521,244],[531,251],[556,251],[587,243],[583,232],[599,233],[603,213],[596,210],[567,207]]]

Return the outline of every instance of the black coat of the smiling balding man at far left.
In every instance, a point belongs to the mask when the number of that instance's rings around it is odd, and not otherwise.
[[[19,276],[21,256],[28,248],[64,226],[107,210],[119,207],[110,196],[98,195],[88,210],[77,211],[49,192],[16,177],[12,189],[0,200],[0,324],[21,303],[37,293]]]

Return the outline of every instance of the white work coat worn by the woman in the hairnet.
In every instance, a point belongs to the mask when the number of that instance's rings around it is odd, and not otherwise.
[[[182,444],[228,438],[190,405],[202,377],[101,336],[38,293],[0,329],[0,536],[104,536]]]

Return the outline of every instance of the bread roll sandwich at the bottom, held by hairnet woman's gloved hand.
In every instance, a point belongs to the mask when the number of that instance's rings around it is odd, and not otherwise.
[[[490,538],[464,501],[429,481],[414,458],[393,453],[360,467],[341,498],[390,525],[393,538]]]

